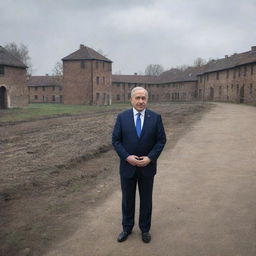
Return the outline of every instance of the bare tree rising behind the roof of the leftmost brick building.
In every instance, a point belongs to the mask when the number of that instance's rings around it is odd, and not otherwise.
[[[19,46],[15,42],[8,43],[4,46],[4,48],[10,52],[13,56],[18,58],[28,67],[28,74],[32,74],[32,63],[31,58],[29,56],[28,47],[24,44],[20,44]]]

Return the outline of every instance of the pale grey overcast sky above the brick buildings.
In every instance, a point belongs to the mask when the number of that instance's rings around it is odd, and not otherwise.
[[[80,44],[101,49],[121,74],[256,45],[256,0],[5,0],[0,10],[0,45],[25,44],[33,75],[51,74]]]

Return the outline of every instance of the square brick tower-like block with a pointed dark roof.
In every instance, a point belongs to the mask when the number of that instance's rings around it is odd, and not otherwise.
[[[62,61],[64,104],[111,104],[111,60],[81,44]]]

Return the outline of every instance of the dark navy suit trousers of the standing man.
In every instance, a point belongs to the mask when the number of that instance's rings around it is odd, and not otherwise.
[[[122,188],[122,225],[123,230],[131,232],[134,226],[136,187],[138,184],[140,194],[139,227],[141,231],[149,232],[152,215],[153,177],[145,177],[137,168],[132,178],[121,177]]]

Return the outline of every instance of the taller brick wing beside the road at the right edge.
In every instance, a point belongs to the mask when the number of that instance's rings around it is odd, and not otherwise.
[[[202,99],[235,103],[256,103],[256,47],[212,60],[198,74]]]

